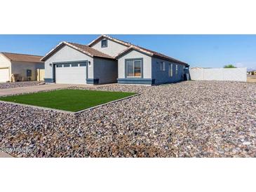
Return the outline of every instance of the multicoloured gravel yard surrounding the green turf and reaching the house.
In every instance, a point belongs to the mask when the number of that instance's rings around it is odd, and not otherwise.
[[[142,95],[77,116],[0,103],[0,148],[18,157],[256,157],[256,83],[97,90]]]

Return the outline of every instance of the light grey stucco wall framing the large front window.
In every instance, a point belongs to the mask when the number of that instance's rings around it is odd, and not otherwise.
[[[145,55],[143,53],[140,53],[136,50],[131,50],[129,53],[126,53],[126,55],[123,55],[119,58],[119,78],[125,78],[126,77],[126,59],[137,59],[137,58],[143,58],[143,78],[151,78],[151,57],[148,55]]]

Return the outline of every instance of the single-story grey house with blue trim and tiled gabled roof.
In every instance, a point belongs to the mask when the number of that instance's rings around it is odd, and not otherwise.
[[[149,84],[184,80],[189,64],[131,43],[101,35],[81,45],[62,41],[41,59],[46,83]]]

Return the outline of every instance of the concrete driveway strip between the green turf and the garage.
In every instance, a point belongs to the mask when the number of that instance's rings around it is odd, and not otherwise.
[[[74,85],[46,84],[46,85],[34,85],[34,86],[20,87],[20,88],[8,88],[8,89],[1,89],[0,96],[22,94],[22,93],[27,93],[27,92],[39,92],[39,91],[43,91],[43,90],[55,90],[55,89],[60,89],[60,88],[69,88],[72,86],[74,86]]]

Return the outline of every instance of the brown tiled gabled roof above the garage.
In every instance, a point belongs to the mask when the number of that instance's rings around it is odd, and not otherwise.
[[[114,57],[112,57],[110,55],[107,55],[105,53],[102,53],[99,50],[95,50],[94,48],[90,48],[89,46],[81,45],[79,43],[70,43],[70,42],[67,42],[67,41],[62,41],[58,44],[58,46],[56,46],[55,48],[50,50],[50,52],[47,53],[46,56],[44,56],[41,59],[41,61],[46,61],[51,55],[56,53],[63,46],[69,46],[71,48],[74,48],[75,50],[78,50],[81,53],[84,53],[84,54],[86,54],[90,57],[102,57],[102,58],[108,58],[108,59],[113,59],[114,60]]]

